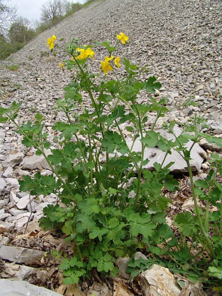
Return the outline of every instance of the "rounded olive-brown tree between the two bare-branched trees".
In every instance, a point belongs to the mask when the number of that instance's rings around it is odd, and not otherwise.
[[[16,21],[10,26],[8,36],[11,43],[27,43],[35,35],[31,28],[30,21],[25,17],[17,17]]]

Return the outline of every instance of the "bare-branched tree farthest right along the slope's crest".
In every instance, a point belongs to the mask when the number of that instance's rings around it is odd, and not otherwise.
[[[62,0],[48,0],[42,5],[41,11],[41,20],[45,23],[53,23],[55,20],[62,18],[65,14]]]

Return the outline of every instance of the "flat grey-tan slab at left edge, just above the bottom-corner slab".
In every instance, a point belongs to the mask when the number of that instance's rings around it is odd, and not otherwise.
[[[40,261],[44,256],[43,251],[24,247],[0,246],[0,258],[16,263],[33,263]]]

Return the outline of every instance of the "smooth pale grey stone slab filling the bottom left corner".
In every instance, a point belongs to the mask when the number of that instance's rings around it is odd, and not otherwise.
[[[54,291],[37,287],[24,280],[0,280],[1,296],[61,296]]]

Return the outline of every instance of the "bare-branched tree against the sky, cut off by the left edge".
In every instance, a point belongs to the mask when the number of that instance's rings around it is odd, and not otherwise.
[[[11,23],[15,20],[17,12],[16,5],[4,4],[0,0],[0,35],[6,36]]]

